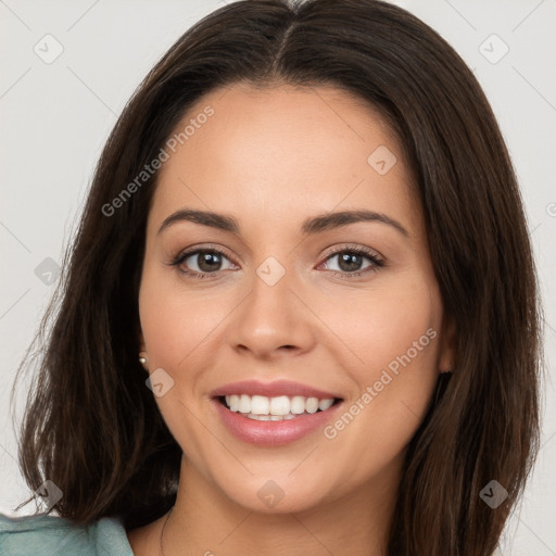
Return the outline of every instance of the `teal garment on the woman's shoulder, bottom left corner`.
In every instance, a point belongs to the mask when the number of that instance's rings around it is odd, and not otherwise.
[[[122,522],[103,517],[77,526],[56,516],[0,513],[1,556],[134,556]]]

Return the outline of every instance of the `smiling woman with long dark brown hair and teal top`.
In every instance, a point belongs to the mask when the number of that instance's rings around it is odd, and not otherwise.
[[[506,147],[437,33],[226,5],[103,151],[21,435],[63,519],[0,546],[490,555],[538,450],[539,311]]]

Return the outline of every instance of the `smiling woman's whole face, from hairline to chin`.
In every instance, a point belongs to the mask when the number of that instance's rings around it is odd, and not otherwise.
[[[176,134],[139,307],[156,403],[189,467],[257,511],[395,482],[453,362],[399,142],[325,87],[220,89]]]

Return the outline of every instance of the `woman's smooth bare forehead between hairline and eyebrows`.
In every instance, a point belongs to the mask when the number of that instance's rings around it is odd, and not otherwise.
[[[151,211],[159,223],[187,205],[281,225],[368,208],[418,226],[395,135],[349,92],[235,85],[201,98],[173,138]]]

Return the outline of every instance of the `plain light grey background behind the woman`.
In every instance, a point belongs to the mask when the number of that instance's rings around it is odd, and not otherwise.
[[[54,288],[48,283],[55,278],[48,274],[52,262],[61,263],[93,165],[135,87],[187,28],[223,3],[0,0],[3,513],[11,514],[30,493],[17,471],[9,394]],[[542,450],[500,554],[556,555],[556,396],[551,370],[556,361],[556,299],[551,288],[556,278],[556,0],[394,3],[437,29],[473,70],[493,105],[521,184],[544,296],[548,369]],[[55,40],[43,39],[47,34]],[[49,64],[34,51],[53,55],[56,42],[63,52]],[[509,51],[501,58],[505,45]],[[18,417],[24,395],[23,389],[16,404]]]

